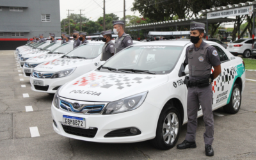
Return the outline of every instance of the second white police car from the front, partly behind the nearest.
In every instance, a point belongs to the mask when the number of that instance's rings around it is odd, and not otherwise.
[[[31,89],[55,93],[61,85],[99,67],[104,63],[100,61],[103,45],[93,41],[79,45],[61,58],[36,66],[30,77]]]

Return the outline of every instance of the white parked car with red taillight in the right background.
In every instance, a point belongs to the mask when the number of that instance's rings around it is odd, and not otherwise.
[[[227,50],[234,56],[241,54],[244,58],[249,58],[252,53],[253,42],[254,40],[252,39],[239,39],[228,44]]]

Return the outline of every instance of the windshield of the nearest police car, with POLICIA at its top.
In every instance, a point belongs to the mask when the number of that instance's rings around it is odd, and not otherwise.
[[[183,49],[182,46],[173,45],[132,46],[118,52],[113,58],[106,61],[100,71],[168,74],[172,72]]]

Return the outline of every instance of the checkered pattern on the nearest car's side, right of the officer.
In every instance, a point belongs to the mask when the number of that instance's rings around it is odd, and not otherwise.
[[[212,70],[213,72],[213,70]],[[220,76],[218,76],[215,81],[212,83],[212,91],[215,93],[215,91],[223,91],[224,90],[224,84],[230,83],[230,81],[233,81],[236,76],[236,68],[224,68],[224,72],[221,72]]]

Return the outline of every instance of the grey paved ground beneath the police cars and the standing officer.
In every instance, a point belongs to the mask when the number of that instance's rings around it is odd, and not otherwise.
[[[215,156],[206,157],[202,117],[198,119],[198,147],[187,150],[157,150],[148,141],[91,143],[60,136],[52,129],[53,96],[31,91],[29,78],[19,75],[22,69],[13,51],[0,51],[0,62],[0,159],[256,159],[256,81],[246,81],[239,113],[214,112]],[[246,72],[246,78],[256,80],[256,72]],[[29,97],[24,98],[24,93]],[[26,111],[26,106],[33,111]],[[31,137],[33,129],[32,136],[36,131],[40,136]],[[185,134],[186,125],[178,143]]]

